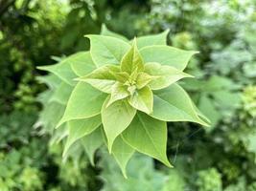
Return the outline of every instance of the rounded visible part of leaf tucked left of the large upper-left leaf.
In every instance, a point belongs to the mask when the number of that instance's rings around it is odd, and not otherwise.
[[[78,76],[84,76],[95,70],[96,65],[91,59],[90,52],[81,52],[74,58],[74,61],[71,63],[71,68]]]

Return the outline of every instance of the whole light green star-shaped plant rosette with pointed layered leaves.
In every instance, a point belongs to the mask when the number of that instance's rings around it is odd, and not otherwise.
[[[95,151],[106,145],[126,177],[135,152],[172,166],[166,155],[167,121],[208,126],[208,119],[177,84],[192,77],[183,71],[198,52],[167,46],[167,34],[129,41],[104,26],[100,35],[86,35],[89,52],[38,67],[60,79],[50,100],[65,106],[56,125],[67,129],[63,156],[80,142],[93,163]]]

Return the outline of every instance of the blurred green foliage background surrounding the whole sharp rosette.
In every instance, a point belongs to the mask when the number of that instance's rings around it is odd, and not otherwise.
[[[174,169],[138,155],[125,180],[104,153],[62,162],[35,129],[35,67],[88,50],[103,23],[129,38],[170,29],[170,45],[200,52],[182,86],[212,126],[169,123]],[[81,190],[256,191],[255,0],[0,0],[0,191]]]

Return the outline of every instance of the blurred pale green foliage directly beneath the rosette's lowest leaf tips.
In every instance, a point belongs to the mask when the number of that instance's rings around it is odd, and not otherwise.
[[[142,155],[136,154],[130,159],[128,179],[119,173],[118,165],[111,162],[109,156],[105,156],[99,165],[103,167],[103,191],[183,191],[185,188],[184,180],[175,169],[168,169],[167,172],[155,170],[152,159]],[[137,171],[138,168],[140,173]]]

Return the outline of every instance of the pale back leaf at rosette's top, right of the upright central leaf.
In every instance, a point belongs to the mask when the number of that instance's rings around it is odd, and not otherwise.
[[[167,35],[169,30],[158,34],[146,35],[138,37],[138,49],[151,45],[166,45]]]

